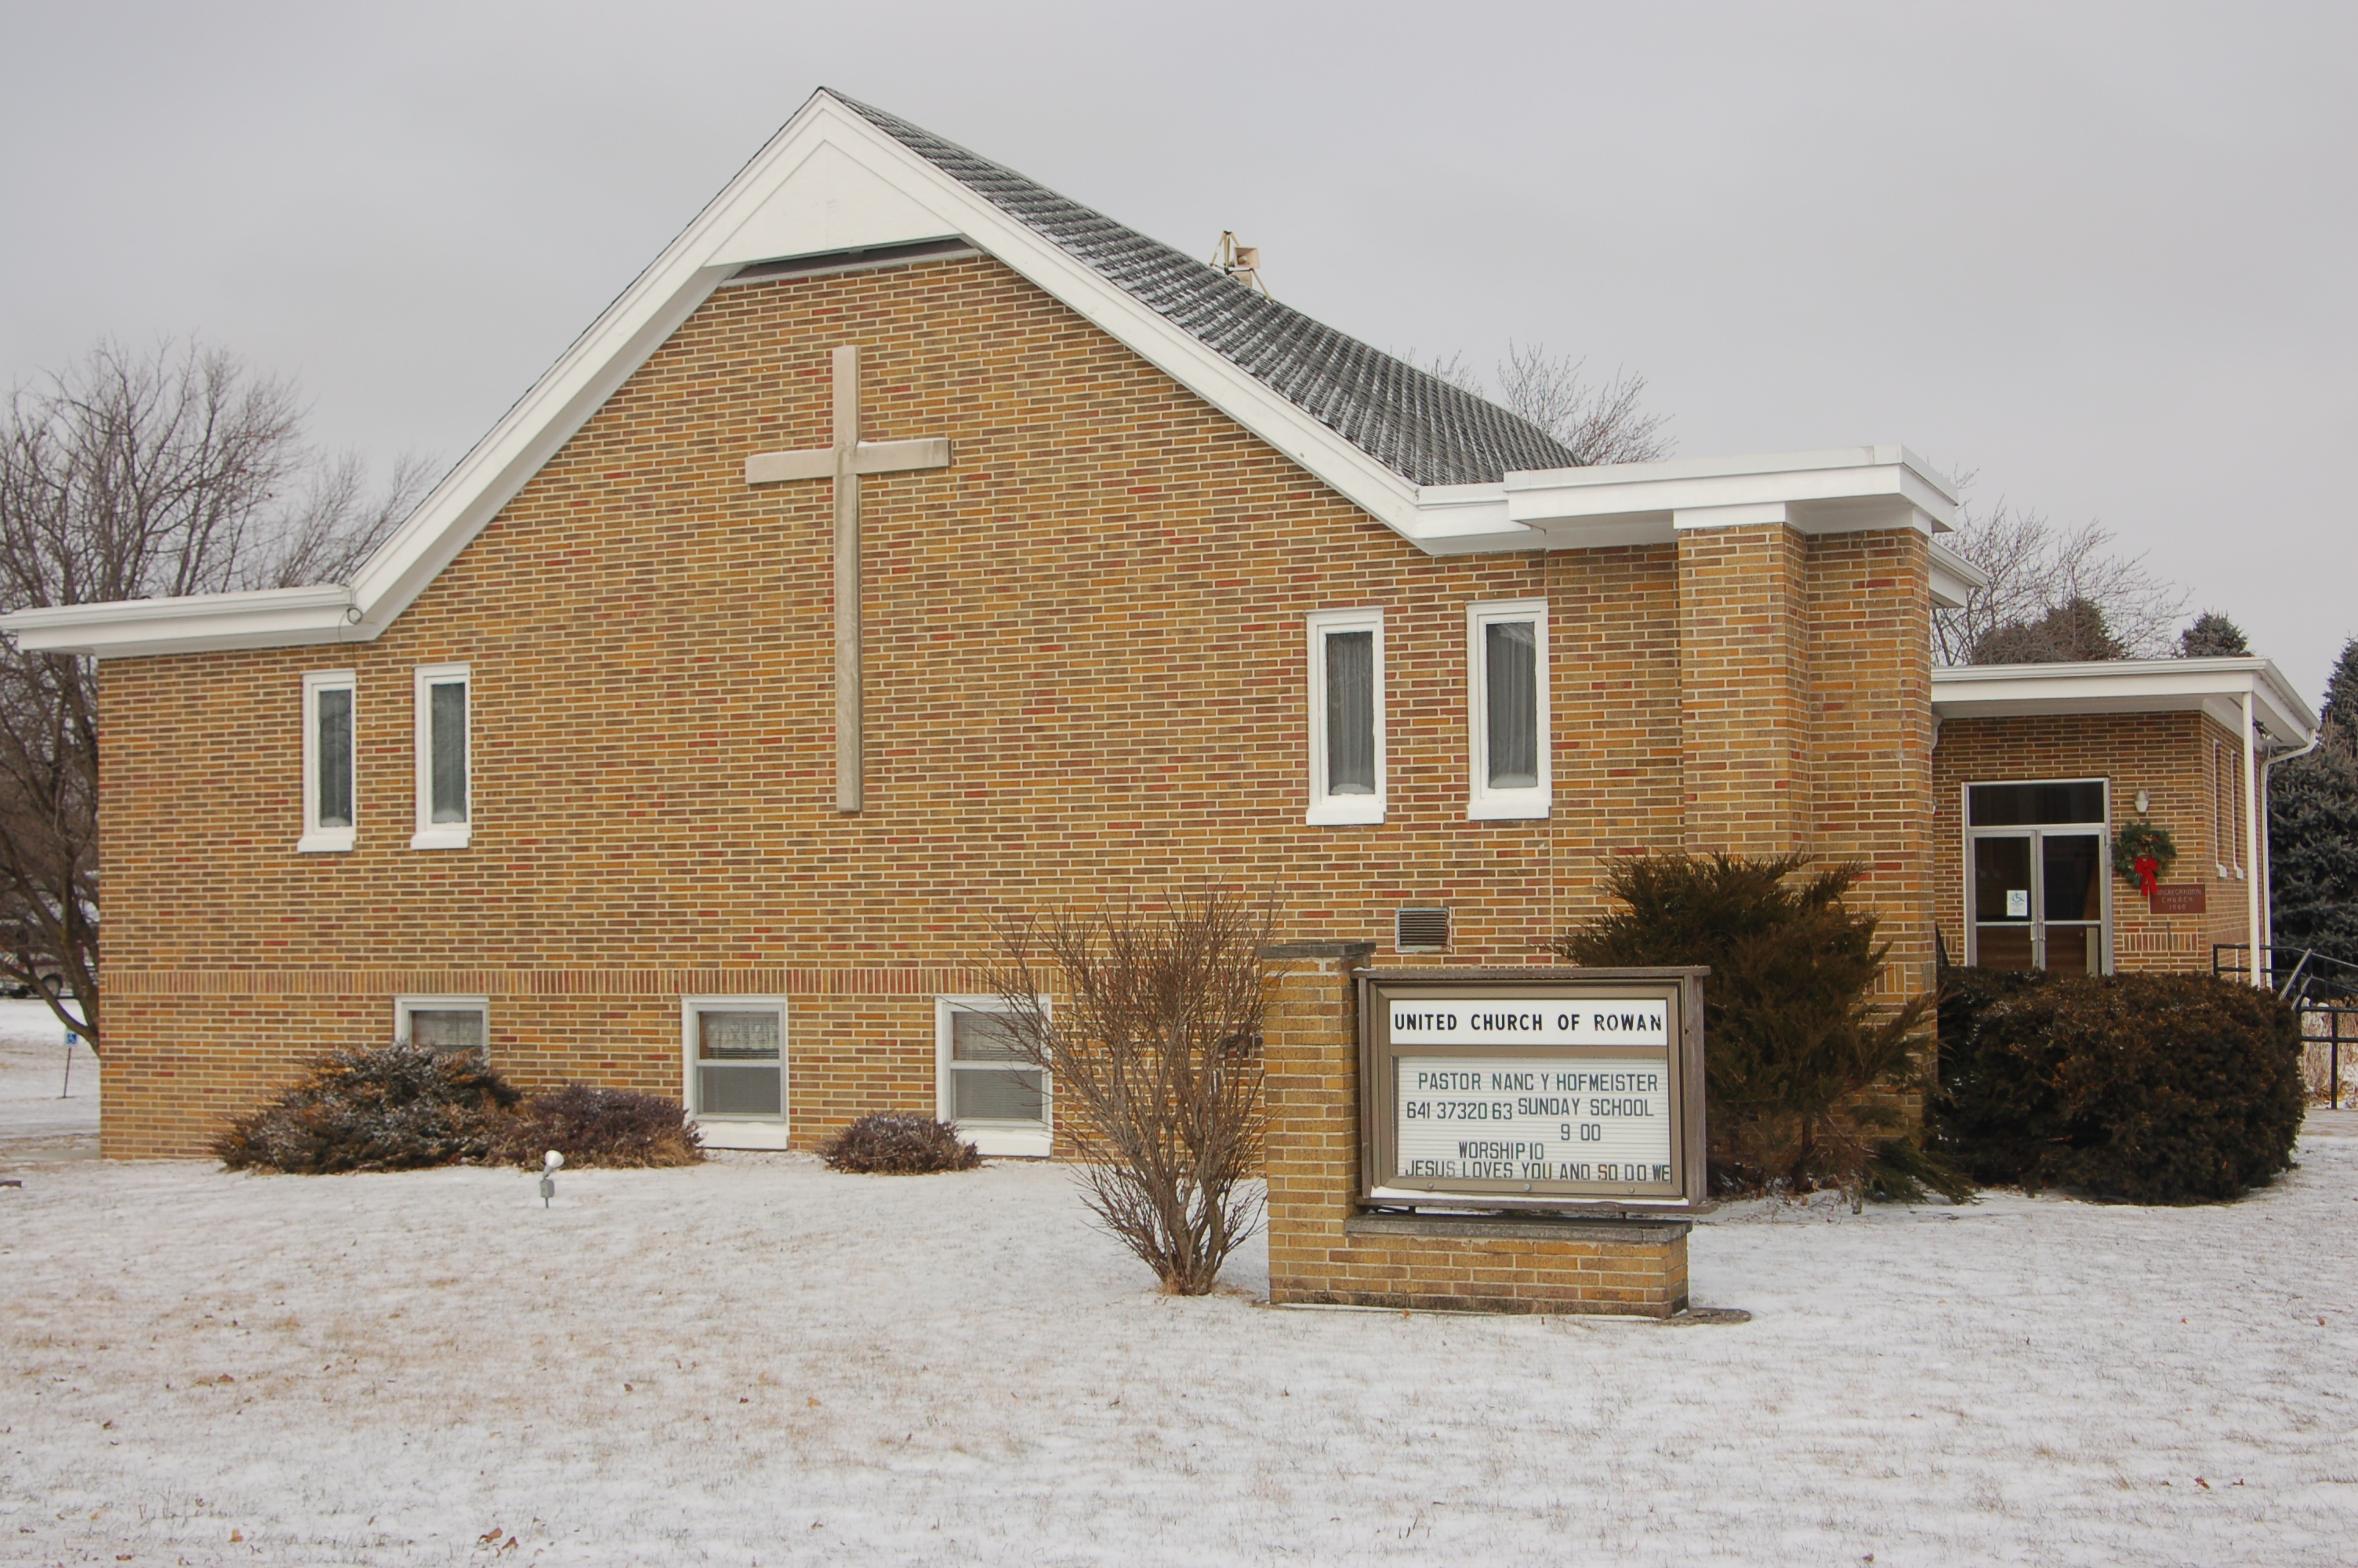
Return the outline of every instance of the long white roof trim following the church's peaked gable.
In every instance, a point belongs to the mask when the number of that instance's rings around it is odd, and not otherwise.
[[[370,641],[490,523],[733,271],[795,255],[964,238],[1106,330],[1429,554],[1669,540],[1674,514],[1785,505],[1811,533],[1952,526],[1957,490],[1898,446],[1511,474],[1415,486],[1087,262],[816,92],[516,398],[410,519],[318,601],[252,594],[61,606],[0,618],[31,651],[99,658]],[[172,608],[165,608],[165,606]]]

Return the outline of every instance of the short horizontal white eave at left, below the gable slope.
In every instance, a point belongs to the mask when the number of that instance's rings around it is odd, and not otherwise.
[[[123,599],[64,604],[0,615],[0,632],[26,653],[193,653],[198,648],[295,648],[323,641],[365,641],[351,625],[351,589],[271,587],[245,594],[186,599]]]

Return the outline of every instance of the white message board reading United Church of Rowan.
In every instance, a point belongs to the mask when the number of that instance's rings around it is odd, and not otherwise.
[[[1394,1073],[1394,1179],[1667,1184],[1669,1007],[1629,1000],[1394,1000],[1391,1042],[1636,1047],[1417,1056]]]

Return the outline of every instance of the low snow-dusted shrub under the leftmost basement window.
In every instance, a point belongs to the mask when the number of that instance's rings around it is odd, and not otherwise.
[[[335,1052],[215,1141],[229,1170],[307,1177],[479,1162],[521,1099],[469,1052],[396,1042]]]

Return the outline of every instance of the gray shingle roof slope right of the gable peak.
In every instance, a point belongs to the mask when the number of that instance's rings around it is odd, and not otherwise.
[[[1566,446],[1497,403],[1320,325],[1217,266],[898,116],[832,90],[830,97],[1415,483],[1488,483],[1509,469],[1575,462]]]

